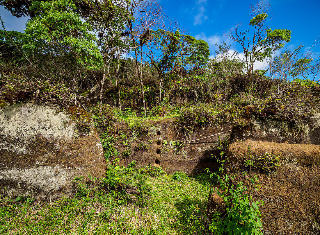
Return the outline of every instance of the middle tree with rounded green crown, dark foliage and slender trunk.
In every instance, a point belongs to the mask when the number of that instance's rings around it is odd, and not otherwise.
[[[207,42],[196,40],[190,35],[183,35],[175,22],[169,21],[163,28],[152,31],[152,40],[146,43],[145,54],[158,72],[160,81],[159,104],[163,90],[163,78],[174,68],[181,68],[181,76],[186,68],[203,66],[209,59],[210,50]]]

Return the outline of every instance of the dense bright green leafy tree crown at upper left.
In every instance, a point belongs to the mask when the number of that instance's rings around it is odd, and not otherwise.
[[[68,54],[77,64],[93,69],[102,66],[102,56],[89,24],[75,12],[70,0],[32,2],[30,10],[35,17],[25,29],[23,48],[35,54],[51,54],[54,57]]]

